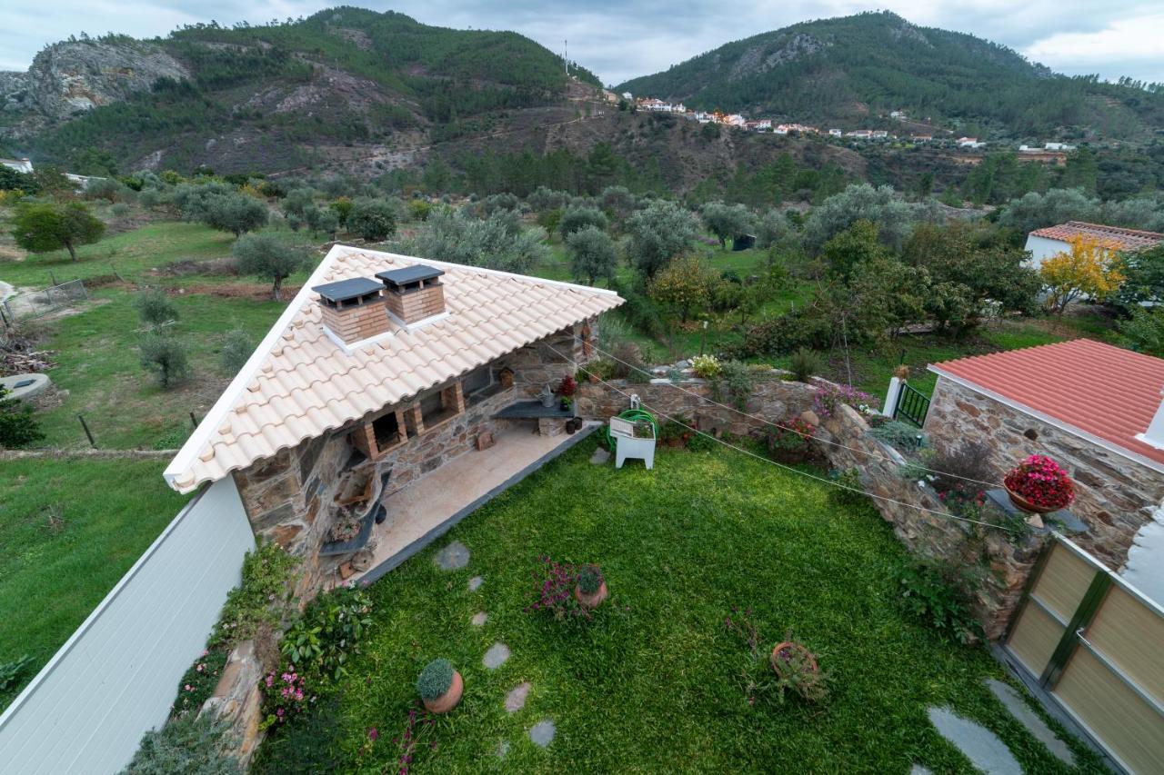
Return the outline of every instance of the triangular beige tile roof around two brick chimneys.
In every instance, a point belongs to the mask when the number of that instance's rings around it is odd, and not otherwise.
[[[448,315],[346,354],[324,333],[315,285],[414,264],[445,270]],[[335,246],[165,469],[203,482],[319,436],[623,303],[612,291]]]

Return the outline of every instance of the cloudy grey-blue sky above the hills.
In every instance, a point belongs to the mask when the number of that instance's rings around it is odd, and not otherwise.
[[[1071,74],[1164,81],[1159,0],[346,0],[428,24],[512,29],[561,51],[606,83],[663,70],[731,40],[808,19],[888,9],[916,24],[1003,43]],[[24,70],[47,43],[86,31],[139,37],[207,20],[229,24],[310,15],[303,0],[3,0],[0,70]]]

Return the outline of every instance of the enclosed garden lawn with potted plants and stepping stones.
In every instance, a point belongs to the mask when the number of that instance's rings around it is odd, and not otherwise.
[[[416,677],[440,656],[464,676],[464,699],[423,732],[417,773],[972,772],[928,723],[934,704],[996,732],[1027,772],[1066,772],[982,687],[1003,676],[985,648],[902,613],[890,569],[906,552],[872,506],[840,505],[826,485],[722,448],[617,471],[588,463],[595,443],[370,588],[376,625],[336,692],[336,772],[396,769]],[[449,540],[471,550],[467,568],[434,566]],[[602,566],[611,597],[592,621],[524,611],[540,555]],[[747,647],[724,624],[732,606],[752,609],[768,649],[795,630],[831,674],[830,697],[750,706]],[[478,611],[482,627],[470,624]],[[512,656],[490,671],[482,655],[498,641]],[[532,692],[509,714],[505,695],[523,681]],[[558,728],[546,749],[527,738],[542,719]],[[321,728],[298,742],[326,745]],[[293,740],[284,732],[264,746]]]

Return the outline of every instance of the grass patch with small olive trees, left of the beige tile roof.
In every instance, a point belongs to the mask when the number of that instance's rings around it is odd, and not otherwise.
[[[283,311],[283,303],[210,294],[172,296],[179,320],[173,330],[190,346],[190,379],[163,390],[139,362],[142,323],[133,292],[101,289],[83,312],[50,323],[42,347],[56,350],[49,376],[68,390],[64,401],[40,413],[43,446],[86,447],[77,419],[85,417],[105,449],[169,449],[190,433],[190,412],[201,419],[233,375],[222,371],[222,334],[246,328],[257,344]]]

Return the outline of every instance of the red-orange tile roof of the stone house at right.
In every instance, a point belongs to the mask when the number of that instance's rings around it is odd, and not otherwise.
[[[952,377],[1069,432],[1164,464],[1164,450],[1136,440],[1164,389],[1164,360],[1090,339],[935,363]]]

